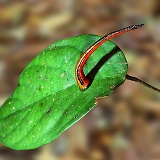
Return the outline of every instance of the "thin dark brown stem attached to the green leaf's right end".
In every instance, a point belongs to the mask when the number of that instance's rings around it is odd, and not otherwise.
[[[130,76],[130,75],[127,74],[127,75],[126,75],[126,79],[131,80],[131,81],[134,81],[134,82],[138,82],[138,83],[140,83],[140,84],[142,84],[142,85],[144,85],[144,86],[146,86],[146,87],[148,87],[148,88],[150,88],[150,89],[152,89],[152,90],[160,93],[160,89],[151,86],[150,84],[148,84],[148,83],[146,83],[146,82],[138,79],[137,77],[132,77],[132,76]]]

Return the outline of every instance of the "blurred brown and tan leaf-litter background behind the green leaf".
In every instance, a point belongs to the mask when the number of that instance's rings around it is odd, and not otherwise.
[[[113,39],[128,74],[160,88],[159,0],[1,0],[0,105],[25,66],[57,40],[105,35],[128,25],[139,30]],[[0,160],[159,160],[160,95],[126,80],[52,143],[31,151],[0,144]]]

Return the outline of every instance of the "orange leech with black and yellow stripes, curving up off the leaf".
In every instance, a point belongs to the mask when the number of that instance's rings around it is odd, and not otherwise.
[[[138,29],[140,27],[142,27],[143,24],[140,25],[132,25],[132,26],[128,26],[125,27],[121,30],[115,31],[115,32],[111,32],[107,35],[105,35],[104,37],[100,38],[98,41],[96,41],[93,45],[91,45],[80,57],[80,59],[78,60],[77,64],[76,64],[76,68],[75,68],[75,77],[76,77],[76,82],[80,88],[80,90],[85,90],[88,88],[89,84],[90,84],[90,80],[84,75],[83,72],[83,67],[86,64],[88,58],[92,55],[92,53],[99,47],[101,46],[104,42],[106,42],[107,40],[110,40],[113,37],[119,36],[123,33],[129,32],[131,30],[134,29]]]

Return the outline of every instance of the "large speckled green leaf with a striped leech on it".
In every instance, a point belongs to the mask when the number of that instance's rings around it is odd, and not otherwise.
[[[80,35],[51,44],[24,69],[18,86],[0,108],[0,141],[17,149],[50,143],[86,115],[97,97],[108,96],[125,81],[127,62],[111,41],[99,47],[84,67],[94,75],[80,91],[75,65],[81,54],[100,37]]]

